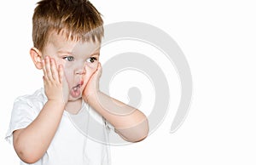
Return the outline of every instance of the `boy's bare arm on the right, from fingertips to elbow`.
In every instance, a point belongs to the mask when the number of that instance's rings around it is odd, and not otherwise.
[[[99,91],[98,83],[102,67],[90,77],[84,89],[83,98],[92,108],[102,115],[115,128],[123,139],[137,142],[148,136],[148,119],[142,111],[115,100]]]

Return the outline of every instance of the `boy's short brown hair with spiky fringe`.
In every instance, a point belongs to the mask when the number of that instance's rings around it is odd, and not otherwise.
[[[67,39],[95,42],[104,34],[102,14],[88,0],[41,0],[32,17],[34,47],[43,50],[49,33],[66,33]]]

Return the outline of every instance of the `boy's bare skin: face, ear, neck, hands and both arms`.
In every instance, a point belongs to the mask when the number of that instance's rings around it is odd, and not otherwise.
[[[99,90],[102,66],[100,43],[74,42],[55,32],[42,51],[31,48],[35,66],[44,71],[48,101],[26,128],[14,132],[15,151],[26,163],[37,162],[47,151],[61,122],[63,111],[77,114],[82,100],[106,118],[123,139],[137,142],[148,135],[143,112],[114,100]]]

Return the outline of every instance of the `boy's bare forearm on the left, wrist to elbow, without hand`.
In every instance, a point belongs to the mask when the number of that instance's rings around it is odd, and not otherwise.
[[[26,128],[13,133],[14,147],[23,162],[37,162],[47,151],[61,121],[63,103],[47,101],[38,117]]]

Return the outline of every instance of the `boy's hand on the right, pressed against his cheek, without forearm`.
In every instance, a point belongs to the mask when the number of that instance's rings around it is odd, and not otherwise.
[[[90,76],[82,94],[82,97],[86,103],[88,103],[89,96],[96,96],[97,92],[99,91],[99,80],[101,76],[102,65],[99,63],[96,71]]]

